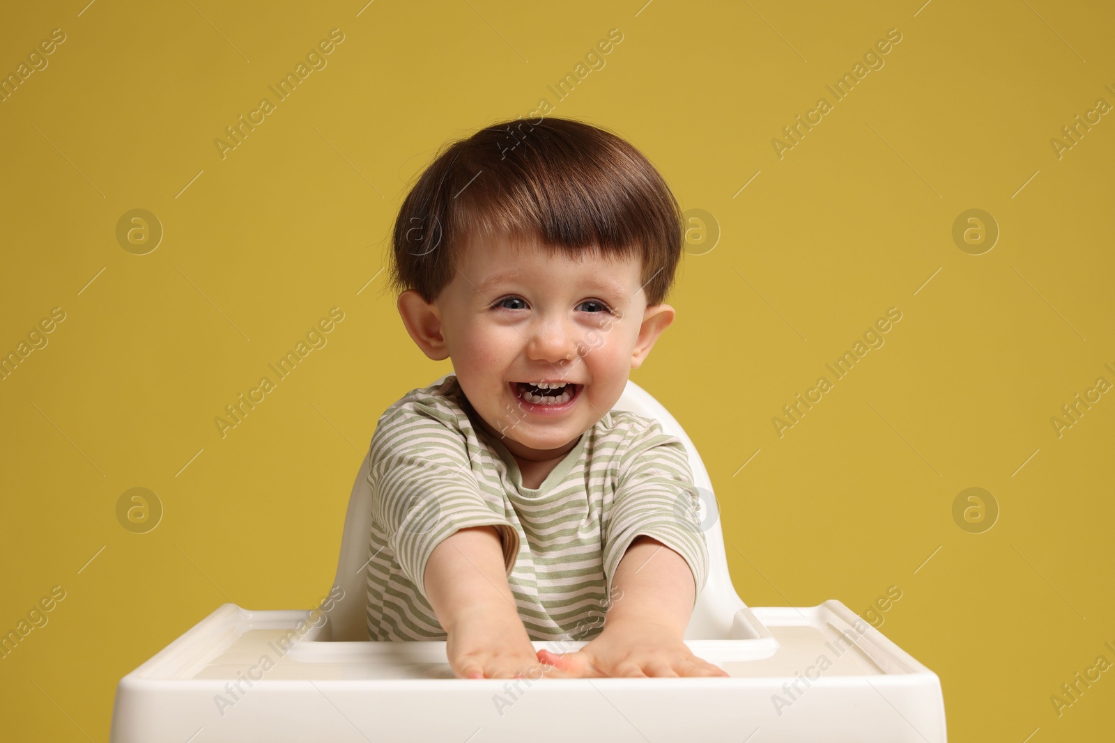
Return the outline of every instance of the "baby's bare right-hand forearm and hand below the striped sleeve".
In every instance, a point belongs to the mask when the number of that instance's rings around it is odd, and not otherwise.
[[[695,586],[678,553],[652,537],[636,537],[615,568],[612,587],[615,598],[597,637],[569,655],[539,651],[539,659],[573,676],[728,675],[682,642]]]

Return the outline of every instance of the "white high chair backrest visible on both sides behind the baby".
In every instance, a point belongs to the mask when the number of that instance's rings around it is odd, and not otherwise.
[[[433,382],[440,384],[450,374],[444,374]],[[700,454],[686,436],[681,424],[649,392],[628,380],[623,394],[613,410],[629,410],[637,416],[653,418],[662,426],[662,431],[676,436],[689,452],[689,466],[694,483],[701,493],[698,516],[708,544],[708,581],[694,607],[686,639],[724,639],[728,637],[735,614],[745,604],[736,594],[728,574],[728,559],[720,531],[720,514],[712,482],[705,469]],[[370,447],[370,443],[369,443]],[[370,454],[370,451],[369,451]],[[328,612],[331,639],[334,642],[358,642],[368,639],[367,627],[367,579],[365,566],[368,560],[368,542],[371,535],[371,488],[368,487],[368,462],[365,457],[352,485],[348,512],[345,516],[345,532],[341,536],[341,554],[337,564],[334,586],[345,590],[345,598],[336,602]]]

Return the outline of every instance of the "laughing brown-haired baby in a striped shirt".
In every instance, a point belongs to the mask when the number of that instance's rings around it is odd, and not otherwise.
[[[391,247],[453,373],[372,437],[369,638],[445,639],[458,678],[727,676],[682,642],[708,570],[685,447],[612,410],[675,316],[659,173],[588,124],[505,121],[443,148]]]

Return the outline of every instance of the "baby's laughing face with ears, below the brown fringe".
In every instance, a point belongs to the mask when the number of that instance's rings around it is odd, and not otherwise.
[[[563,457],[672,322],[667,304],[648,311],[640,274],[639,258],[576,261],[507,238],[465,248],[430,311],[465,397],[515,457]],[[521,382],[568,387],[540,398]]]

